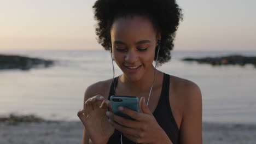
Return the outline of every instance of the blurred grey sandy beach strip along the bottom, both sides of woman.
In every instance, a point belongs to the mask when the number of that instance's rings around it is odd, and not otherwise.
[[[39,123],[0,123],[1,144],[82,143],[83,124],[79,121]],[[256,142],[256,125],[203,123],[203,143]]]

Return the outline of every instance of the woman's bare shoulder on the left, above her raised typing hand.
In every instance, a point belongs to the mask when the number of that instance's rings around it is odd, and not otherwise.
[[[99,81],[87,87],[84,93],[84,102],[95,95],[102,95],[104,98],[108,98],[112,80],[113,79]]]

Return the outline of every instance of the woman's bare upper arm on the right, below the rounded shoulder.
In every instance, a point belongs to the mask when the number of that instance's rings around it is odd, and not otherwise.
[[[189,82],[181,124],[181,143],[202,143],[202,95],[200,88]]]

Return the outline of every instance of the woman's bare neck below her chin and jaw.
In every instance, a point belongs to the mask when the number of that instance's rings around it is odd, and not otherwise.
[[[154,76],[158,77],[160,73],[161,72],[159,70],[155,70],[154,66],[152,65],[152,67],[150,67],[149,70],[147,70],[147,73],[145,73],[138,81],[130,81],[129,79],[127,79],[127,77],[125,77],[124,74],[121,75],[120,81],[130,92],[149,92],[154,81]],[[156,79],[154,83],[156,83]]]

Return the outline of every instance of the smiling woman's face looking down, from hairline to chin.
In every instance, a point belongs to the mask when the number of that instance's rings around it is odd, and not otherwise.
[[[115,19],[110,30],[115,62],[130,81],[137,81],[153,68],[156,31],[143,16]]]

